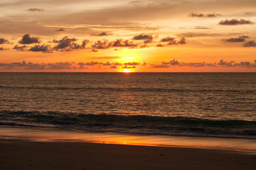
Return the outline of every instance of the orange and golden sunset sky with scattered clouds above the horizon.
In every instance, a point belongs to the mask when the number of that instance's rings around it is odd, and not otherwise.
[[[0,0],[0,72],[256,72],[255,0]]]

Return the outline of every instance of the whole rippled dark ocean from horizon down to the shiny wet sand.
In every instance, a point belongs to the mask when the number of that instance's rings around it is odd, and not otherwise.
[[[0,73],[0,128],[256,139],[256,73]]]

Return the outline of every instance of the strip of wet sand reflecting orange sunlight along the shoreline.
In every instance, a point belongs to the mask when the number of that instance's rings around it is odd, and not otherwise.
[[[89,133],[65,130],[28,130],[21,128],[0,128],[0,137],[43,142],[95,142],[119,145],[230,149],[256,153],[256,140],[247,139],[176,137],[164,135],[122,135],[117,133]]]

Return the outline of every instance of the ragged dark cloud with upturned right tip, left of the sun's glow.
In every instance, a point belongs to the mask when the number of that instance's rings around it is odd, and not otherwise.
[[[76,38],[68,38],[68,36],[65,36],[61,40],[53,40],[53,42],[58,43],[55,47],[53,47],[54,50],[58,51],[72,51],[72,50],[79,50],[79,49],[85,49],[85,45],[89,42],[89,40],[83,40],[82,45],[79,45],[76,43]]]

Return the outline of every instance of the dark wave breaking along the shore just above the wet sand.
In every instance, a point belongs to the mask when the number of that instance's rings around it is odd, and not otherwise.
[[[93,115],[0,111],[0,127],[61,128],[89,132],[256,139],[256,121],[208,120],[149,115]]]

